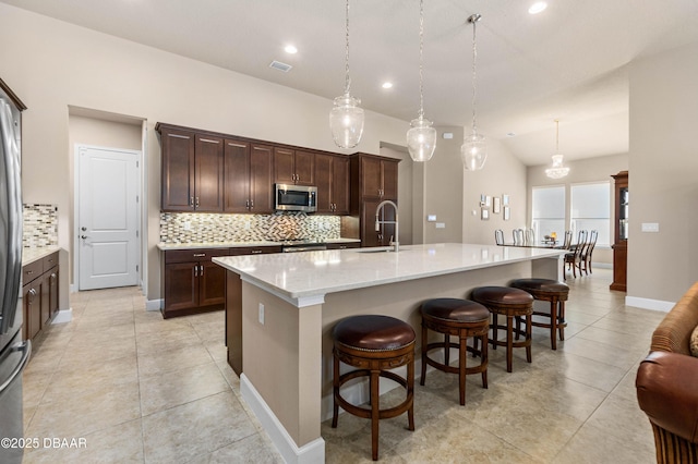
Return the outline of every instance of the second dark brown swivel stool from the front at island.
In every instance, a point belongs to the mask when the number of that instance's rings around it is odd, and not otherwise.
[[[426,365],[445,373],[458,374],[460,404],[466,404],[466,375],[482,374],[482,388],[488,388],[488,333],[490,312],[479,303],[458,298],[435,298],[422,303],[422,378],[426,380]],[[444,334],[444,341],[428,343],[429,330]],[[449,366],[450,335],[458,337],[458,367]],[[468,346],[468,338],[480,338],[482,350]],[[431,350],[444,349],[444,363],[428,356]],[[480,355],[480,365],[466,367],[468,352]]]

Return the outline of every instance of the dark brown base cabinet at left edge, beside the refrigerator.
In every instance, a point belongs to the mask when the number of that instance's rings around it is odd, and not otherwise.
[[[58,252],[22,268],[24,338],[35,339],[59,309]]]

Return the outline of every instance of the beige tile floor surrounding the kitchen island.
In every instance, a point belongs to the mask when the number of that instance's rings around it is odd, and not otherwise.
[[[388,463],[652,463],[635,374],[663,313],[624,305],[611,271],[568,280],[566,340],[535,329],[533,363],[490,351],[489,389],[434,371],[416,388],[417,429],[381,422]],[[221,312],[163,320],[137,289],[71,295],[74,320],[51,326],[24,375],[27,438],[85,438],[86,449],[27,450],[25,463],[276,463],[226,364]],[[516,353],[516,352],[521,353]],[[397,391],[396,391],[397,393]],[[393,393],[388,393],[386,401]],[[397,396],[396,396],[397,398]],[[328,463],[370,462],[370,426],[324,423]]]

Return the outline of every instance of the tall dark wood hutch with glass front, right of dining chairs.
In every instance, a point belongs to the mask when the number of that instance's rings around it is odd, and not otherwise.
[[[615,180],[615,234],[613,248],[613,283],[611,290],[627,291],[628,261],[628,171],[612,175]]]

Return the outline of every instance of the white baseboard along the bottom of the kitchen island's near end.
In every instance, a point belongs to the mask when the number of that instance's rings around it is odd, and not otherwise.
[[[285,462],[291,464],[325,462],[325,440],[320,437],[299,448],[244,374],[240,376],[240,392]]]

